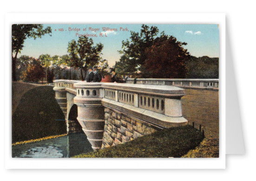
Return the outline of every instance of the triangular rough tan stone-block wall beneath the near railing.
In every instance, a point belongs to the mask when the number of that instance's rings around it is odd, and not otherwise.
[[[105,127],[101,148],[122,144],[158,130],[159,128],[138,119],[105,108]]]

